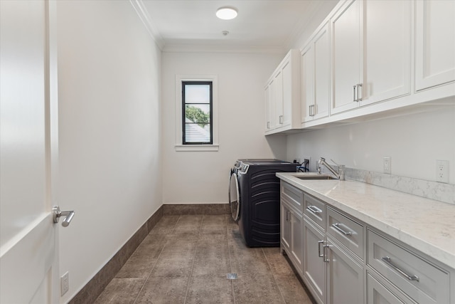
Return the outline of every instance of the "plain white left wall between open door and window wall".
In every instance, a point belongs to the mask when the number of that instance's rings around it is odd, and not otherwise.
[[[161,51],[129,1],[58,1],[57,14],[67,302],[162,204]]]

